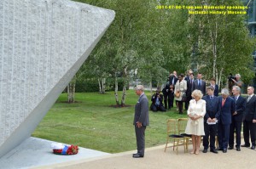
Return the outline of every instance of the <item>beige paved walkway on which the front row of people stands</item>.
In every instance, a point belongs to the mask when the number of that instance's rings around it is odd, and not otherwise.
[[[182,168],[182,169],[254,169],[256,151],[248,148],[241,148],[238,152],[236,149],[228,150],[227,153],[220,151],[217,155],[211,152],[199,155],[190,155],[183,153],[183,149],[179,149],[178,155],[167,149],[164,152],[164,145],[148,148],[145,151],[144,158],[134,159],[132,154],[135,151],[129,151],[119,154],[104,155],[102,157],[84,159],[79,161],[56,164],[52,166],[41,166],[43,168],[69,168],[69,169],[162,169],[162,168]],[[189,150],[192,147],[189,145]],[[202,150],[202,148],[201,148]]]

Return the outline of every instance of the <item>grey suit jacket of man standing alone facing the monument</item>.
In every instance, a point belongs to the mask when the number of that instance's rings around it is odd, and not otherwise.
[[[148,98],[144,93],[140,96],[135,105],[133,124],[136,125],[137,121],[142,122],[143,126],[149,125]]]

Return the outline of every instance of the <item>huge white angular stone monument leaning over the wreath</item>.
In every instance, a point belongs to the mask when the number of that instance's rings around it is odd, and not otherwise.
[[[68,0],[0,1],[0,157],[31,136],[113,19]]]

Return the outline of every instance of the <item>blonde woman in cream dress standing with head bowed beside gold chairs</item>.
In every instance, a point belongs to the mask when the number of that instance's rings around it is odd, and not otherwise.
[[[206,114],[206,101],[201,99],[202,93],[200,90],[194,90],[191,95],[194,99],[189,102],[189,121],[186,127],[186,133],[191,134],[193,150],[191,154],[198,155],[201,144],[201,136],[204,132],[204,115]]]

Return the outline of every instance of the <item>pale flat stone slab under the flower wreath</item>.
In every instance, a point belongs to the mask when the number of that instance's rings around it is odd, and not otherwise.
[[[27,138],[8,154],[3,155],[0,159],[0,168],[26,169],[109,155],[102,151],[82,147],[79,147],[77,155],[55,155],[51,149],[52,143],[56,142],[41,138]]]

